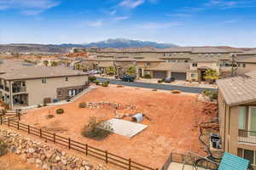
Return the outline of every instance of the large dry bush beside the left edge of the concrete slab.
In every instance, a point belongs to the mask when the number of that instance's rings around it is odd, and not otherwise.
[[[89,122],[84,125],[82,129],[82,135],[86,138],[102,140],[113,133],[112,125],[104,119],[96,119],[96,117],[90,117]]]

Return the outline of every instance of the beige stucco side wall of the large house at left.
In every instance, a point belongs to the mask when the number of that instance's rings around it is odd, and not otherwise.
[[[26,80],[26,92],[28,94],[28,105],[44,103],[44,98],[57,99],[56,89],[84,85],[88,82],[87,76],[47,78],[46,83],[42,79]]]

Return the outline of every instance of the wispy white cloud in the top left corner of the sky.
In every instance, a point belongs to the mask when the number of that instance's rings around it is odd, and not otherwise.
[[[35,15],[60,3],[60,0],[0,0],[0,10],[15,8],[22,14]]]

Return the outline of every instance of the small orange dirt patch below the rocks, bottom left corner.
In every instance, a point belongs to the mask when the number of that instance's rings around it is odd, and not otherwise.
[[[0,170],[40,170],[35,165],[26,163],[20,156],[8,153],[0,156]]]

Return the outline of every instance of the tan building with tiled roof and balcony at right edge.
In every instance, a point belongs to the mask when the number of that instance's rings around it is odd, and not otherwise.
[[[256,166],[256,71],[217,83],[222,149]]]

